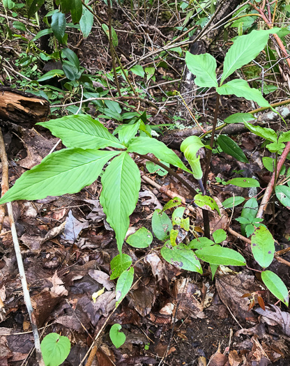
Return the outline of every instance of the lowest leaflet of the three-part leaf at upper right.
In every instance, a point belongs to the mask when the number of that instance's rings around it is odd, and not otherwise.
[[[269,107],[270,104],[262,96],[261,91],[257,89],[250,88],[247,82],[243,79],[234,79],[227,84],[219,86],[217,88],[217,93],[220,96],[229,96],[234,94],[238,98],[245,98],[246,100],[254,100],[260,107]]]

